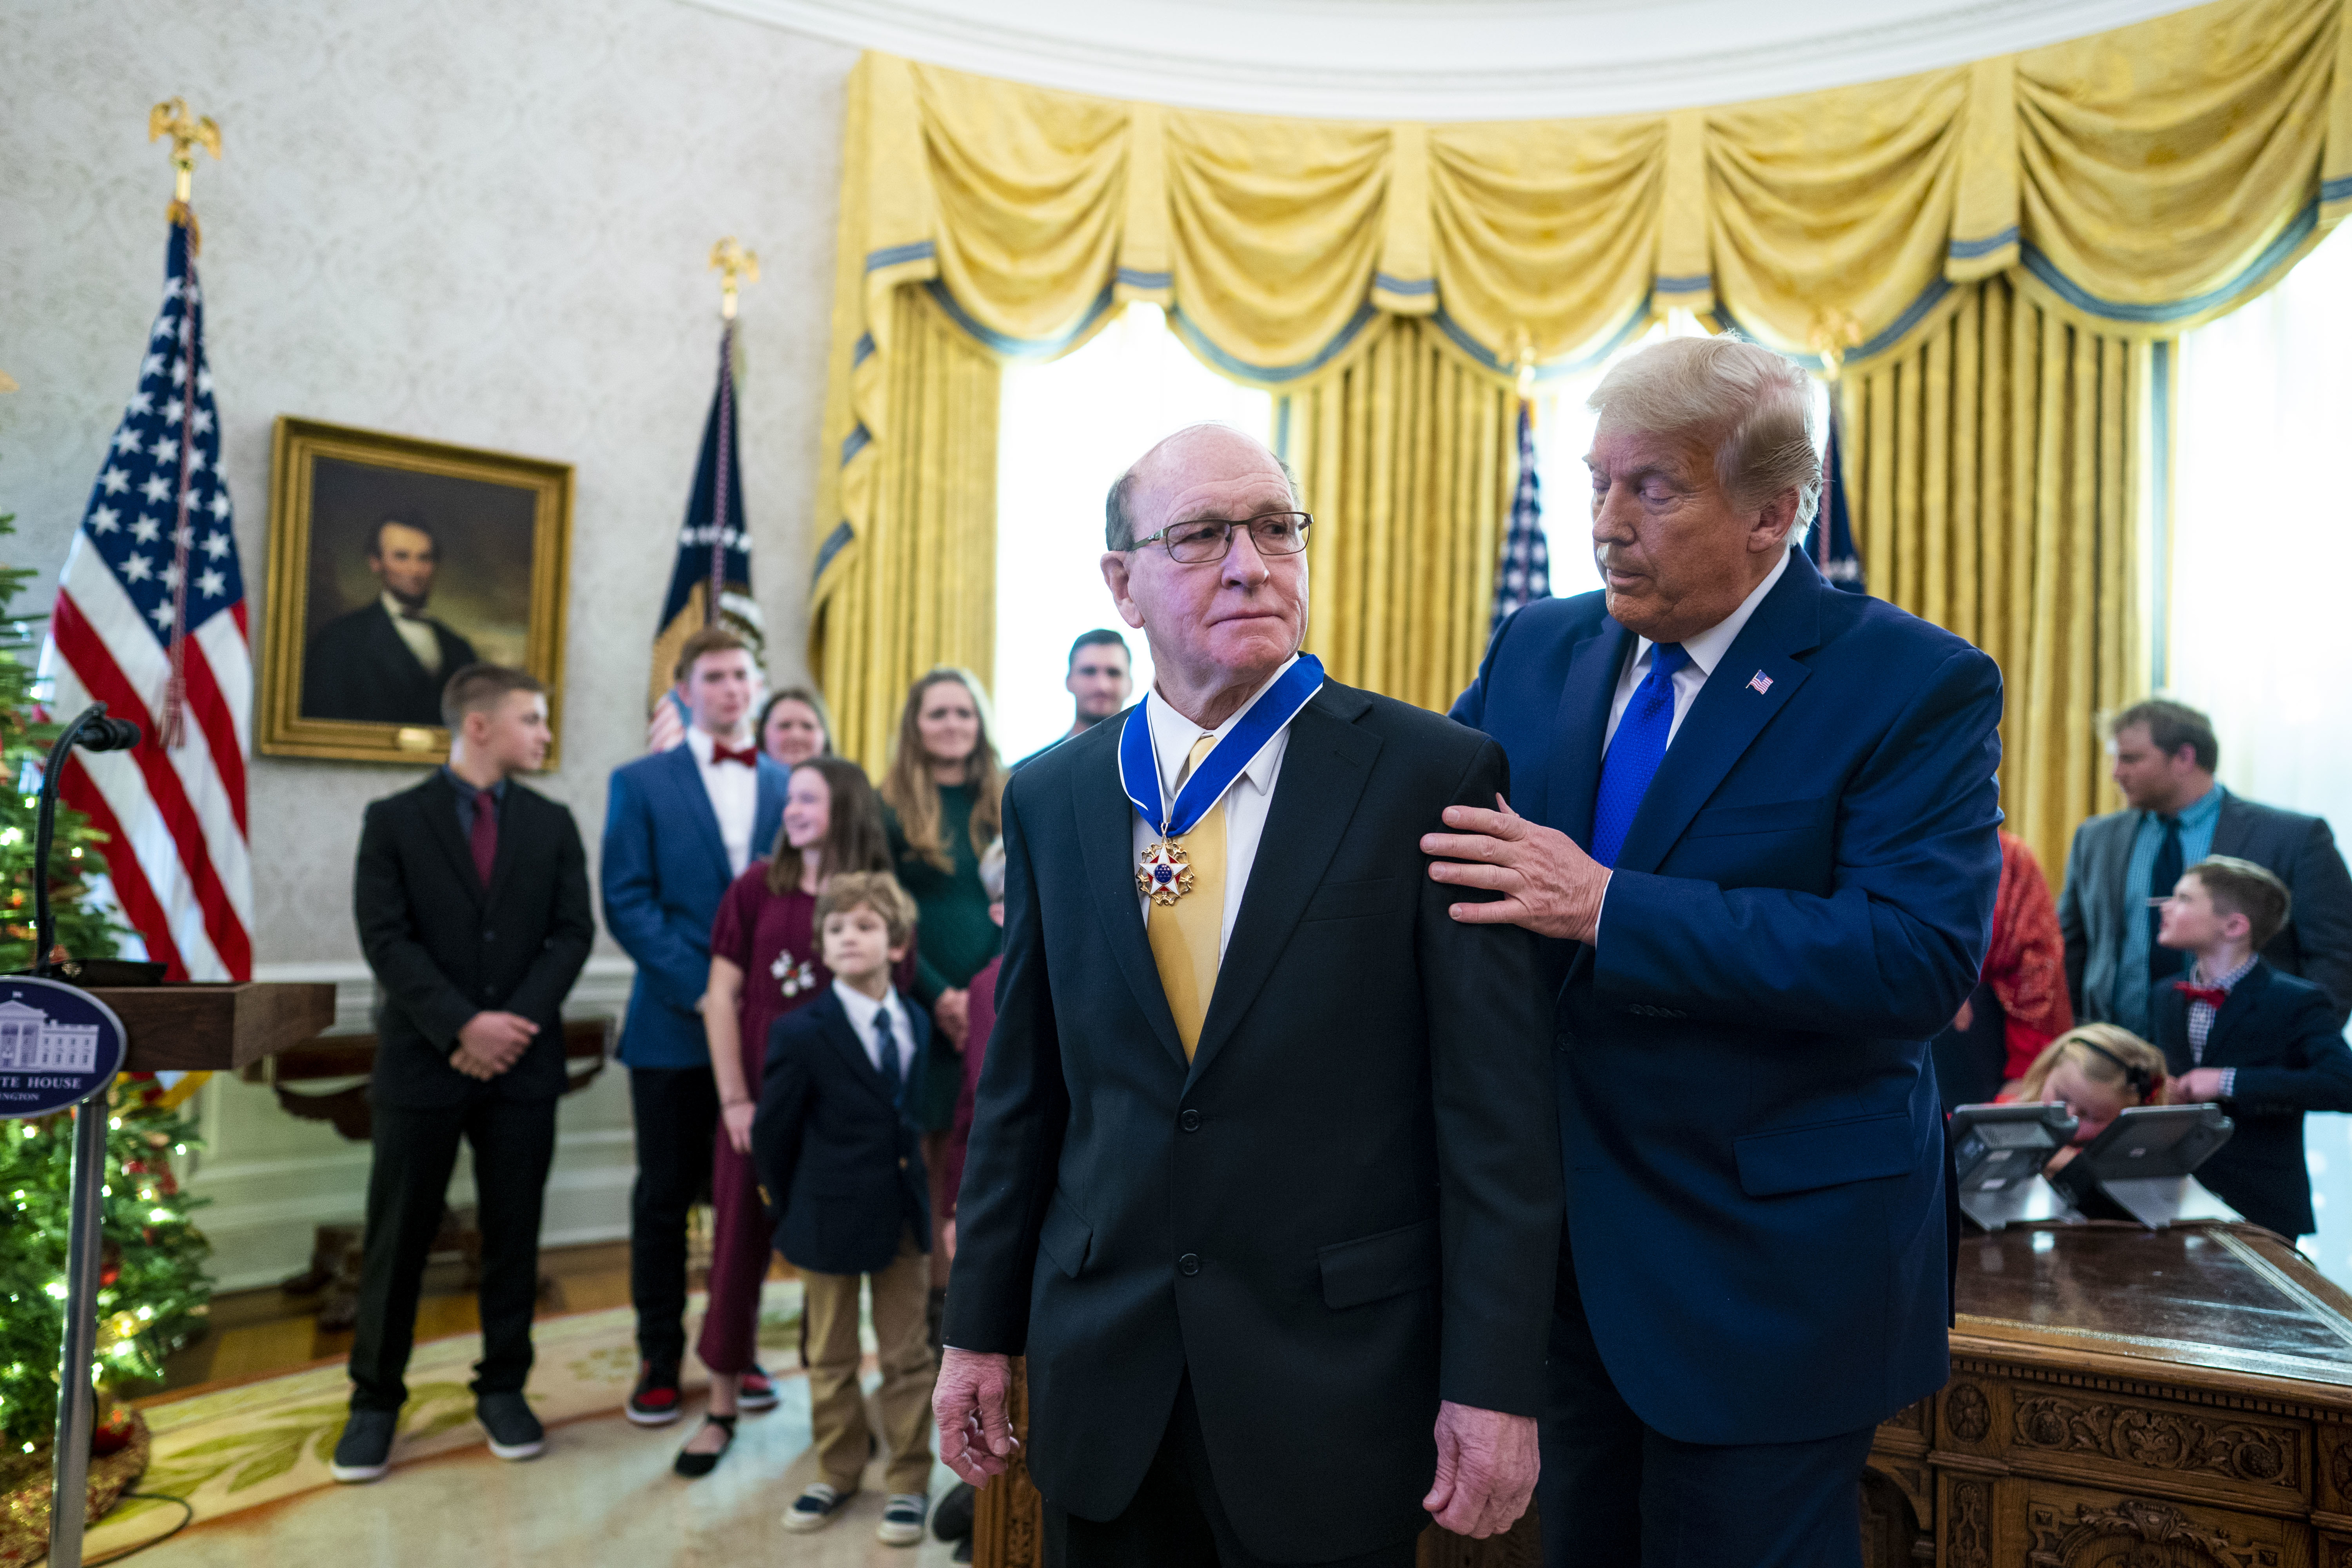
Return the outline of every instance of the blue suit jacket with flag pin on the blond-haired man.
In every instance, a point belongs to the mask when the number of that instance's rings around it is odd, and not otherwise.
[[[1632,642],[1599,592],[1529,604],[1454,705],[1512,806],[1588,846]],[[1987,656],[1797,552],[1668,748],[1597,945],[1550,943],[1576,1281],[1668,1436],[1853,1432],[1950,1373],[1926,1041],[1985,957],[1999,717]]]

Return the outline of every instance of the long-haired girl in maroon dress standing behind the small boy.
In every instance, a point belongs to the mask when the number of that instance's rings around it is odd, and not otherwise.
[[[783,832],[720,898],[710,926],[710,987],[703,1034],[720,1086],[720,1135],[710,1152],[710,1307],[694,1354],[710,1368],[710,1408],[677,1455],[677,1474],[706,1476],[734,1441],[743,1375],[760,1333],[769,1222],[750,1161],[750,1119],[760,1105],[767,1027],[814,1001],[833,973],[816,950],[816,896],[840,872],[887,872],[882,802],[847,757],[811,757],[793,769]],[[898,985],[913,985],[913,947]],[[774,1394],[760,1408],[774,1403]]]

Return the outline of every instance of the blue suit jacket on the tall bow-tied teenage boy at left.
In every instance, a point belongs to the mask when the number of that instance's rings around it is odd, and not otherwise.
[[[767,755],[757,769],[753,856],[776,842],[790,778]],[[708,1067],[710,1046],[694,1004],[710,983],[710,922],[734,872],[727,870],[720,818],[691,745],[673,745],[612,771],[597,879],[604,929],[637,959],[621,1023],[621,1060],[630,1067]]]

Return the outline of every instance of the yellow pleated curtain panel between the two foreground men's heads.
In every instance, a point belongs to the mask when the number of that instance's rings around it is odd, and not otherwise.
[[[1334,679],[1444,710],[1486,646],[1512,393],[1428,322],[1395,320],[1355,362],[1275,409],[1308,536],[1308,651]]]

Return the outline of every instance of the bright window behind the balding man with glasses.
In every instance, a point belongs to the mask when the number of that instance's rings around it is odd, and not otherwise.
[[[997,750],[1007,762],[1070,726],[1070,644],[1127,635],[1136,693],[1152,679],[1143,632],[1103,588],[1103,496],[1164,435],[1218,421],[1261,442],[1272,397],[1195,360],[1157,306],[1129,306],[1051,364],[1009,364],[997,421]]]

